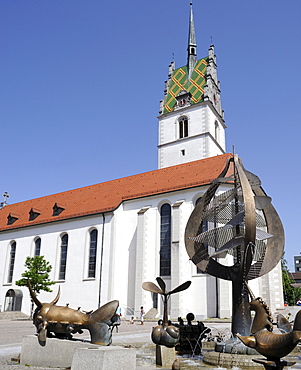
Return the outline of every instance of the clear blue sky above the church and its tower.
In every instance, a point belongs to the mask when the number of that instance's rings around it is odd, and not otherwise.
[[[227,151],[273,199],[301,252],[301,2],[194,1],[215,45]],[[186,63],[189,1],[0,0],[0,192],[9,203],[157,168],[168,65]],[[0,195],[1,195],[0,194]]]

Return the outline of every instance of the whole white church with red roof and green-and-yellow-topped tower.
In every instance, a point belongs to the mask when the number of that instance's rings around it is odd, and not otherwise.
[[[171,297],[170,318],[193,312],[197,319],[231,316],[231,283],[192,263],[184,232],[197,201],[219,176],[226,153],[224,114],[213,45],[197,57],[190,5],[187,64],[173,61],[160,102],[158,169],[0,209],[0,308],[29,314],[28,289],[15,281],[27,256],[43,255],[52,265],[53,293],[59,305],[89,311],[118,299],[123,316],[158,309],[160,297],[142,283],[161,276],[167,289],[191,280]],[[220,191],[227,190],[223,185]],[[279,265],[252,282],[272,310],[283,307]]]

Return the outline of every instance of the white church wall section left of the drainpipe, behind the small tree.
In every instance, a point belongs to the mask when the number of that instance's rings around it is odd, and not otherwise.
[[[18,287],[15,281],[21,278],[24,272],[25,259],[27,256],[33,256],[32,242],[36,236],[41,238],[41,255],[50,262],[53,269],[50,273],[50,279],[57,282],[52,286],[53,293],[41,292],[39,299],[42,302],[51,301],[56,295],[58,284],[61,285],[61,298],[58,302],[59,305],[69,303],[70,307],[77,308],[82,306],[84,309],[95,309],[98,304],[98,279],[85,279],[84,271],[86,270],[84,262],[85,250],[88,248],[86,233],[91,225],[96,225],[99,229],[101,227],[100,217],[87,217],[84,219],[72,220],[68,222],[60,222],[57,224],[49,224],[36,228],[14,230],[11,233],[1,234],[0,236],[0,250],[1,255],[5,253],[6,260],[1,261],[2,284],[0,287],[0,299],[4,304],[5,294],[8,289],[21,289],[23,292],[22,311],[29,314],[30,298],[28,289],[26,287]],[[68,233],[68,253],[67,253],[67,266],[65,281],[58,280],[59,268],[59,248],[60,248],[60,235],[63,232]],[[99,231],[100,233],[100,231]],[[16,257],[14,264],[13,281],[8,284],[5,280],[5,271],[9,268],[9,250],[8,245],[10,240],[16,241]],[[99,246],[98,246],[99,247]],[[99,263],[97,264],[99,265]]]

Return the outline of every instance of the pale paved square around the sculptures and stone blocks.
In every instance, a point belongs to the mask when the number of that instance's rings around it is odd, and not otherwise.
[[[131,345],[137,349],[137,370],[164,369],[155,365],[155,347],[151,342],[151,328],[156,325],[154,322],[145,322],[140,325],[139,322],[129,324],[123,321],[119,327],[118,333],[113,333],[114,345]],[[228,330],[229,323],[211,323],[206,324],[214,330]],[[21,366],[12,361],[21,352],[21,342],[24,335],[35,333],[35,327],[29,320],[0,320],[0,370],[44,370],[46,368]],[[78,338],[89,340],[89,333],[85,332],[78,335]],[[187,360],[189,362],[189,360]],[[184,366],[184,369],[195,367],[196,364]],[[199,365],[197,365],[199,367]],[[183,368],[181,364],[181,368]],[[49,368],[47,368],[49,370]],[[58,370],[52,368],[52,370]],[[62,370],[62,369],[60,369]],[[86,370],[86,369],[83,369]],[[88,369],[87,369],[88,370]],[[108,369],[109,370],[109,369]]]

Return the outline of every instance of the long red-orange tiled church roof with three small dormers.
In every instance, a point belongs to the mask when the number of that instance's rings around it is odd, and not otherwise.
[[[227,153],[7,205],[0,210],[0,232],[109,212],[125,200],[206,185],[219,176],[231,157]],[[63,208],[58,216],[53,216],[55,204]],[[31,209],[40,214],[29,221]],[[11,225],[7,224],[9,215],[17,217]]]

